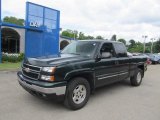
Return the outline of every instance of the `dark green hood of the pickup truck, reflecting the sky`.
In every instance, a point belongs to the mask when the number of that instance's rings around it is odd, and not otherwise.
[[[80,61],[86,61],[91,59],[87,56],[80,56],[74,54],[60,54],[59,56],[44,56],[44,57],[37,57],[37,58],[25,58],[24,63],[31,64],[34,66],[60,66]]]

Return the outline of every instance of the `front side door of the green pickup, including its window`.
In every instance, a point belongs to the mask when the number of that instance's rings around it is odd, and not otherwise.
[[[117,58],[112,43],[104,43],[100,49],[100,54],[110,52],[109,58],[101,58],[95,63],[96,87],[113,83],[118,80]]]

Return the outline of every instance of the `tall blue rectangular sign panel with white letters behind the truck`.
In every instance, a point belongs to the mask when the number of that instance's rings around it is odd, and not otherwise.
[[[58,10],[27,2],[26,57],[59,53],[59,21]]]

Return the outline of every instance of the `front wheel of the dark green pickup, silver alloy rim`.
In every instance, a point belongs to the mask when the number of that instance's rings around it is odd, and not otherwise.
[[[64,105],[72,110],[77,110],[86,105],[90,96],[90,85],[84,78],[77,77],[67,86]]]

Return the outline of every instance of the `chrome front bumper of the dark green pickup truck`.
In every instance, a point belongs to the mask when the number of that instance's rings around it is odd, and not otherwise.
[[[32,91],[40,92],[43,94],[56,94],[57,96],[64,95],[66,92],[66,86],[44,88],[33,84],[28,84],[27,82],[25,82],[25,80],[21,80],[21,77],[22,75],[18,76],[18,82],[20,83],[20,85]]]

